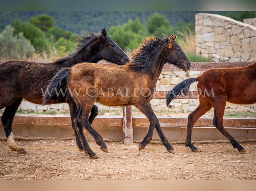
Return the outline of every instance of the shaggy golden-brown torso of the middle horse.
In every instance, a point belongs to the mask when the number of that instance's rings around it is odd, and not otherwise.
[[[72,92],[79,92],[73,98],[82,96],[79,100],[83,100],[89,95],[103,105],[124,106],[134,104],[141,94],[152,98],[154,89],[147,88],[149,82],[148,75],[129,71],[125,65],[81,63],[71,68],[68,84]]]

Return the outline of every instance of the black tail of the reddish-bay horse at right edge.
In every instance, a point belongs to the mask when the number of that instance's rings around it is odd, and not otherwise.
[[[174,88],[171,89],[168,92],[168,94],[166,95],[166,105],[169,106],[172,99],[175,99],[179,95],[187,95],[190,85],[193,82],[197,82],[198,79],[199,79],[198,77],[197,78],[188,78],[188,79],[184,80],[183,82],[174,86]]]

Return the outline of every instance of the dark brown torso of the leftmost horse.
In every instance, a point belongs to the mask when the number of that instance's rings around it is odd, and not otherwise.
[[[13,94],[32,103],[41,104],[49,80],[61,69],[60,64],[8,61],[0,65],[0,88],[8,87]],[[63,98],[61,98],[63,99]],[[65,99],[63,99],[65,102]],[[63,102],[56,99],[57,102]]]

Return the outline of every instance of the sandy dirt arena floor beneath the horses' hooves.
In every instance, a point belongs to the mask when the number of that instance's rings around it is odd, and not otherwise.
[[[256,142],[243,141],[246,153],[228,142],[196,143],[193,153],[184,144],[168,153],[159,143],[138,151],[138,143],[124,146],[106,141],[108,153],[94,141],[91,149],[98,159],[90,159],[74,140],[17,140],[28,154],[11,151],[0,139],[0,180],[255,180]]]

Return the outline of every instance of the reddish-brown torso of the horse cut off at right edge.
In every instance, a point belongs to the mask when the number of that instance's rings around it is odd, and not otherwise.
[[[227,101],[235,104],[255,103],[256,63],[246,67],[209,69],[199,77],[198,89],[204,96],[209,92],[215,97],[225,95]]]

